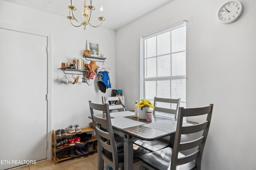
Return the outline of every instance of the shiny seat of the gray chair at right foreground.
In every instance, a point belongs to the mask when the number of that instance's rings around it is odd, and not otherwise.
[[[178,154],[178,157],[182,157],[184,154]],[[170,170],[172,159],[172,148],[167,147],[148,154],[140,156],[140,160],[156,170]],[[177,170],[191,170],[195,167],[194,162],[188,162],[186,164],[177,166]]]

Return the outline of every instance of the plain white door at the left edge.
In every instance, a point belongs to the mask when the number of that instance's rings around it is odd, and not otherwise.
[[[47,37],[0,28],[0,170],[46,159]]]

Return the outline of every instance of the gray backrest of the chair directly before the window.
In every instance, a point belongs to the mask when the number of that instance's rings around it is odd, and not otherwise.
[[[175,105],[175,109],[172,109],[172,104]],[[158,107],[162,105],[161,107]],[[166,106],[166,107],[164,107]],[[163,113],[174,114],[174,118],[178,117],[178,108],[180,107],[180,98],[178,99],[168,99],[168,98],[154,98],[154,109],[153,114],[155,111],[160,111]]]

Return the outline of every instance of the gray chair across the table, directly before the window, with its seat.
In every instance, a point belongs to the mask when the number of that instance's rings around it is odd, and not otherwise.
[[[169,99],[154,97],[154,107],[153,114],[159,113],[163,116],[174,115],[174,117],[176,117],[176,115],[178,115],[178,108],[180,107],[180,98]],[[152,152],[169,146],[170,141],[174,141],[174,135],[175,133],[154,141],[143,141],[136,138],[134,139],[134,143]],[[173,143],[171,143],[171,145],[173,145]]]

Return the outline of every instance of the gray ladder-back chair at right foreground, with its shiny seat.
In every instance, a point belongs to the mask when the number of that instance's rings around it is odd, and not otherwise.
[[[140,170],[145,167],[152,170],[201,170],[202,154],[208,135],[213,104],[200,108],[179,108],[177,130],[174,140],[174,147],[166,147],[140,156]],[[182,126],[183,118],[188,116],[206,115],[206,121],[194,125]],[[202,131],[202,135],[195,140],[180,142],[181,135],[193,134]],[[188,155],[180,151],[197,148]]]

